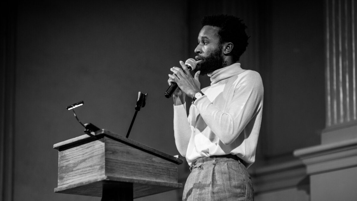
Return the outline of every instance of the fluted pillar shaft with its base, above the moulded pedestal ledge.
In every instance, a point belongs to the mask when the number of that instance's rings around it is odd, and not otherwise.
[[[357,137],[357,2],[326,0],[326,129],[322,143]]]

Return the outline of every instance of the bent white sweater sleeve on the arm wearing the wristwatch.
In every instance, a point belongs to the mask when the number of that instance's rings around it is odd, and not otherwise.
[[[232,100],[225,112],[220,111],[206,95],[195,101],[207,126],[224,144],[232,143],[262,106],[263,84],[259,73],[250,71],[234,86]]]

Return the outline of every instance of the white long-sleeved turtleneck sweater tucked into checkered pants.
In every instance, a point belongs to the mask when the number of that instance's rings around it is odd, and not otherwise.
[[[233,154],[249,167],[255,161],[262,119],[262,79],[240,63],[208,76],[211,85],[202,89],[205,95],[191,105],[188,117],[186,103],[174,106],[176,147],[188,165],[201,157]]]

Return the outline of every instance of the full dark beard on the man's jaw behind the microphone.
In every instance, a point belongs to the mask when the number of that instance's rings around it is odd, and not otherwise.
[[[198,70],[201,70],[200,75],[205,75],[225,67],[222,55],[222,45],[219,45],[207,57],[198,56],[198,59],[200,59],[201,62],[197,64],[195,71],[197,72]]]

